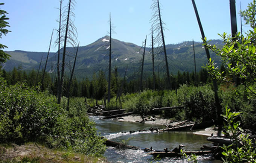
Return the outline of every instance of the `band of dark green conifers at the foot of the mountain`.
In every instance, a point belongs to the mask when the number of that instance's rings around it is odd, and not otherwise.
[[[225,67],[222,65],[220,71],[224,71]],[[18,66],[18,68],[14,67],[14,69],[10,72],[6,72],[4,69],[0,70],[3,78],[7,81],[8,85],[15,85],[17,82],[24,82],[30,87],[35,87],[38,85],[42,85],[43,78],[43,70],[37,72],[36,70],[25,71],[22,70],[22,66]],[[166,90],[169,86],[166,82],[166,77],[155,73],[155,90]],[[69,80],[68,75],[64,75],[63,83],[63,92],[62,96],[68,96],[68,87]],[[88,77],[78,80],[75,77],[72,79],[70,89],[70,96],[72,97],[87,97],[94,98],[97,100],[107,99],[107,91],[108,91],[108,76],[105,75],[103,70],[99,70],[97,73],[94,73],[93,77],[89,79]],[[201,69],[195,75],[194,71],[189,72],[181,72],[178,71],[176,75],[170,74],[171,79],[171,90],[176,90],[180,87],[180,85],[204,85],[210,83],[209,73],[207,73],[206,69]],[[142,80],[142,88],[143,90],[154,90],[154,78],[151,75],[146,75]],[[136,93],[141,91],[140,88],[140,78],[122,78],[119,76],[118,68],[115,67],[113,72],[111,73],[111,82],[110,82],[110,92],[111,98],[116,96],[118,91],[121,90],[123,94],[126,93]],[[123,83],[123,84],[122,84]],[[58,89],[58,78],[54,78],[52,73],[45,72],[44,82],[43,82],[43,90],[49,90],[52,94],[57,96]]]

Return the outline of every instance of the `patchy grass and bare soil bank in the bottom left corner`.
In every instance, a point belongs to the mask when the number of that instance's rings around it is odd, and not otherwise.
[[[105,158],[88,157],[83,154],[49,149],[37,143],[24,145],[0,145],[0,163],[108,163]]]

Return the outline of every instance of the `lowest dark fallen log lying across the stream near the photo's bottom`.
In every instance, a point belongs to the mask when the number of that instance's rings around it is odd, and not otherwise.
[[[204,155],[204,154],[211,154],[212,151],[184,151],[183,152],[186,155]],[[179,152],[149,152],[147,153],[149,155],[153,155],[154,157],[181,157],[182,154]]]

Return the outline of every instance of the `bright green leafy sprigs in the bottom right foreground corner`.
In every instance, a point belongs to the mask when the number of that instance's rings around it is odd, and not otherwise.
[[[248,135],[243,135],[243,131],[239,125],[240,122],[236,120],[240,112],[230,112],[230,109],[226,107],[226,114],[222,115],[224,120],[224,134],[232,140],[232,144],[229,146],[223,145],[222,160],[224,163],[238,163],[238,162],[250,162],[255,163],[256,150],[252,146],[251,139]],[[240,138],[240,139],[239,139]],[[239,140],[241,140],[242,145]]]

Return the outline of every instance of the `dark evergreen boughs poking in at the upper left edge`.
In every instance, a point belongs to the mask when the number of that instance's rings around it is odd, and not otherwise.
[[[0,5],[4,5],[5,3],[0,3]],[[6,14],[8,12],[4,10],[0,10],[0,38],[2,38],[2,35],[8,34],[8,32],[11,32],[10,30],[6,29],[6,27],[9,27],[9,23],[6,20],[9,20],[9,18],[6,17]],[[7,59],[9,59],[10,55],[6,54],[2,49],[8,48],[7,46],[0,44],[0,63],[6,62]]]

